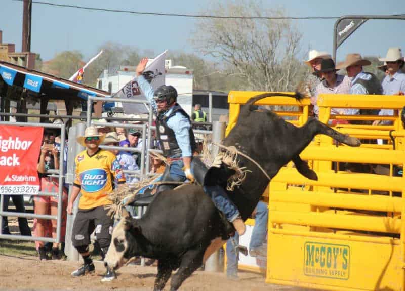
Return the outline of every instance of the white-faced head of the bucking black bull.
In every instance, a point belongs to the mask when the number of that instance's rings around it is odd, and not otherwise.
[[[104,265],[111,269],[122,267],[131,257],[136,244],[134,235],[140,234],[141,228],[128,211],[121,210],[121,220],[114,227],[110,247],[104,259]]]

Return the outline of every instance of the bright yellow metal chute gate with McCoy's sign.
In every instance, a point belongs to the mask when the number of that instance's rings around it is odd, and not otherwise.
[[[227,132],[240,106],[260,93],[229,93]],[[290,122],[300,126],[308,118],[310,102],[270,97],[260,104],[294,106],[296,111],[280,115],[290,116]],[[291,165],[274,177],[269,192],[266,282],[329,290],[405,290],[405,224],[401,220],[405,180],[398,175],[405,161],[405,131],[398,116],[404,104],[403,96],[319,97],[319,119],[324,123],[380,119],[392,125],[338,124],[336,130],[374,142],[351,148],[316,136],[300,156],[317,173],[318,181],[306,179]],[[392,108],[395,114],[331,115],[331,108]],[[386,142],[378,145],[377,139]],[[348,171],[348,165],[367,166],[370,171]]]

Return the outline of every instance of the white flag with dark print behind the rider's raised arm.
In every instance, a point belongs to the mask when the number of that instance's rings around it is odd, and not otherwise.
[[[150,80],[150,85],[153,90],[159,86],[165,85],[165,58],[167,50],[158,55],[154,59],[149,59],[148,64],[143,72],[144,77]],[[129,81],[121,90],[115,93],[113,98],[118,99],[132,99],[146,101],[143,92],[138,86],[136,77]],[[119,101],[116,101],[119,102]],[[143,103],[126,103],[123,102],[123,109],[125,114],[143,114],[148,113],[148,107]]]

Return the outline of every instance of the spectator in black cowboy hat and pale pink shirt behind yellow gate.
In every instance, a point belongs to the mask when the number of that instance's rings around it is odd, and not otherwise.
[[[347,76],[336,73],[335,62],[332,59],[322,60],[320,70],[323,74],[323,80],[319,83],[315,90],[315,102],[318,100],[319,94],[349,94],[350,79]],[[314,106],[314,112],[319,114],[319,107]],[[332,114],[346,114],[345,109],[332,108]]]

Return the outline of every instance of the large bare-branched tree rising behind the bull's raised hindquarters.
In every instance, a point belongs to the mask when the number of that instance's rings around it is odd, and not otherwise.
[[[218,16],[283,16],[282,10],[264,9],[257,1],[238,0],[211,5],[207,14]],[[288,20],[213,19],[197,24],[196,48],[246,80],[249,90],[292,91],[298,84],[301,33]]]

